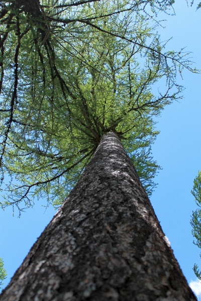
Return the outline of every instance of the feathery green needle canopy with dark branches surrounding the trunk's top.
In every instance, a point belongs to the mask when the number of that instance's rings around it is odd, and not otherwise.
[[[34,197],[61,204],[109,131],[151,194],[153,116],[181,96],[176,75],[195,72],[188,53],[166,51],[154,29],[173,3],[1,2],[2,208],[21,211]]]

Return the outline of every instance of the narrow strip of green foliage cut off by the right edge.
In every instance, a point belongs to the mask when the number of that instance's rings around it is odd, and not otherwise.
[[[197,245],[198,248],[201,248],[201,171],[198,172],[197,177],[194,179],[194,185],[191,193],[198,206],[198,208],[192,212],[192,219],[190,221],[192,226],[192,235],[195,238],[193,243]],[[201,271],[199,271],[197,264],[194,264],[193,270],[197,278],[201,280]]]

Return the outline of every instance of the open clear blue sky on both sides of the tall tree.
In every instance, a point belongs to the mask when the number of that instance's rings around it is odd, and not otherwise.
[[[192,60],[197,68],[201,68],[201,9],[195,12],[196,3],[190,8],[185,0],[177,0],[174,8],[176,16],[166,17],[168,21],[165,23],[166,29],[160,30],[161,38],[167,40],[173,37],[168,44],[169,50],[186,47],[186,51],[193,52]],[[196,208],[190,190],[193,179],[201,169],[201,75],[185,71],[183,80],[178,80],[186,88],[184,98],[166,107],[161,117],[157,118],[157,128],[161,133],[152,153],[163,170],[156,178],[158,187],[151,202],[190,283],[196,280],[193,264],[197,262],[201,267],[199,249],[192,243],[189,224],[191,212]],[[8,272],[5,286],[55,213],[52,207],[45,210],[40,202],[22,213],[21,218],[18,218],[17,211],[12,216],[12,208],[0,211],[0,257],[4,259]]]

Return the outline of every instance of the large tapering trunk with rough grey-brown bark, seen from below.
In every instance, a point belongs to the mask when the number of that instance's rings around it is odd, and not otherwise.
[[[114,133],[103,137],[0,299],[196,300]]]

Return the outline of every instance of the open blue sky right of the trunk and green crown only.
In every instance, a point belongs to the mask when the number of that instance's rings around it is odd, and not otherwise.
[[[167,48],[179,50],[186,47],[196,67],[201,68],[201,10],[195,12],[187,7],[185,1],[176,1],[175,17],[166,18],[166,29],[160,30],[161,39],[173,39]],[[187,278],[188,283],[195,281],[192,270],[194,263],[201,267],[201,250],[192,243],[189,224],[192,210],[196,205],[190,191],[193,179],[201,169],[201,75],[183,72],[183,79],[178,78],[185,90],[183,99],[166,107],[158,121],[160,134],[152,148],[152,154],[163,168],[156,181],[158,187],[151,197],[151,203],[168,237],[174,255]],[[191,282],[191,287],[199,291],[200,286]],[[198,295],[198,293],[197,293]]]

